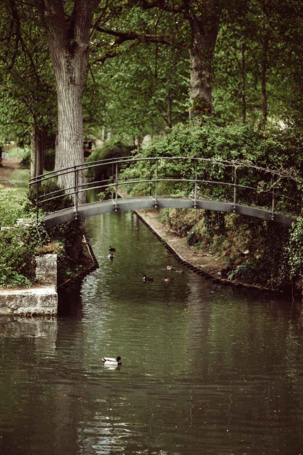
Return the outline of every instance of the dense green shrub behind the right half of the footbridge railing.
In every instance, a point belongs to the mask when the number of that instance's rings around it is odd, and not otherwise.
[[[237,161],[291,176],[291,179],[272,177],[270,173],[258,172],[242,166],[237,170],[237,202],[256,204],[270,208],[271,189],[300,200],[301,184],[298,178],[303,170],[303,136],[292,130],[278,128],[257,129],[250,126],[218,127],[208,120],[203,126],[195,122],[179,125],[164,137],[142,148],[140,157],[192,157],[215,160]],[[193,179],[195,165],[190,160],[161,160],[158,162],[158,178]],[[217,182],[233,183],[232,167],[220,166],[215,162],[199,161],[198,178]],[[149,179],[155,176],[154,161],[140,161],[125,170],[125,177]],[[274,185],[274,186],[272,186]],[[132,193],[144,194],[146,183],[133,186]],[[160,182],[158,194],[169,195],[184,192],[193,194],[193,182]],[[248,187],[258,188],[258,191]],[[264,190],[264,191],[263,191]],[[216,200],[233,200],[233,187],[198,184],[198,196]],[[276,198],[276,208],[285,212],[300,211],[300,204],[289,199]]]

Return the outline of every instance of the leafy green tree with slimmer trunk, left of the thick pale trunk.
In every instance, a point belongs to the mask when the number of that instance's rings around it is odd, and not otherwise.
[[[31,144],[31,177],[42,174],[56,125],[55,90],[46,39],[35,10],[14,0],[0,6],[0,131]]]

